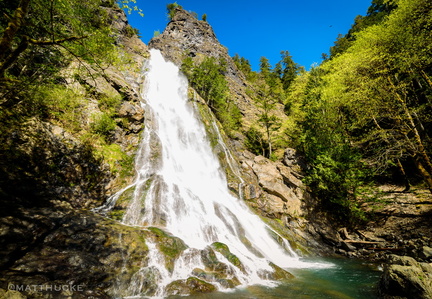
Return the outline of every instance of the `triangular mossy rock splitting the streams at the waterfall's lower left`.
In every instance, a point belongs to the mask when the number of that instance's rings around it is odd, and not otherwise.
[[[147,236],[156,243],[159,251],[165,256],[165,267],[172,273],[175,261],[188,246],[180,238],[156,227],[149,227]]]

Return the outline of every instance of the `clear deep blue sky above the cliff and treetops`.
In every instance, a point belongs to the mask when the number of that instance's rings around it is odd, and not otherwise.
[[[144,17],[130,15],[130,24],[147,44],[168,19],[166,5],[173,0],[138,0]],[[287,50],[307,69],[321,62],[339,33],[345,34],[357,15],[365,15],[371,0],[178,0],[199,18],[205,13],[222,45],[233,56],[250,61],[254,70],[265,56],[274,66]]]

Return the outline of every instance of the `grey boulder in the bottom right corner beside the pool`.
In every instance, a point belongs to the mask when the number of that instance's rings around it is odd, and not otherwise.
[[[384,298],[432,298],[432,266],[411,257],[390,255],[380,292]]]

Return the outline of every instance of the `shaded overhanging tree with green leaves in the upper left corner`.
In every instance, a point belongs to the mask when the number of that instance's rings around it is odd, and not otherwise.
[[[101,5],[66,0],[4,3],[1,13],[12,15],[0,22],[0,105],[14,105],[19,93],[52,80],[71,59],[102,68],[113,53],[114,37]]]

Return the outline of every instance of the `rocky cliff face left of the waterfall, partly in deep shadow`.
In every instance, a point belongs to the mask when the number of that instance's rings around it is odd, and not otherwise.
[[[63,117],[69,107],[59,117],[26,116],[20,123],[1,116],[9,124],[2,124],[0,134],[2,298],[108,298],[107,290],[130,279],[146,256],[140,230],[89,211],[134,174],[123,164],[133,163],[143,129],[139,88],[148,55],[130,34],[123,11],[101,9],[112,20],[120,58],[130,65],[110,65],[100,72],[84,61],[69,63],[57,78],[62,93],[47,96],[79,100],[70,122]],[[104,139],[89,138],[110,100],[116,103],[110,111],[114,126]],[[123,266],[131,272],[120,278]]]

